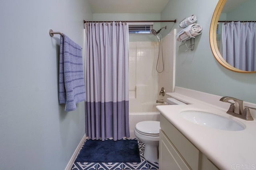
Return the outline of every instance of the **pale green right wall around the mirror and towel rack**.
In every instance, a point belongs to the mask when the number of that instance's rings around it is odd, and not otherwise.
[[[177,42],[176,53],[176,86],[198,90],[219,96],[233,96],[246,102],[256,103],[256,74],[242,74],[232,72],[222,67],[210,49],[209,29],[212,14],[218,0],[194,0],[188,5],[187,0],[170,0],[161,13],[161,20],[177,19],[172,27],[192,14],[198,18],[197,23],[202,25],[202,34],[195,39],[194,51],[181,52],[180,42]],[[162,25],[163,26],[163,25]],[[166,35],[170,30],[163,31]]]

